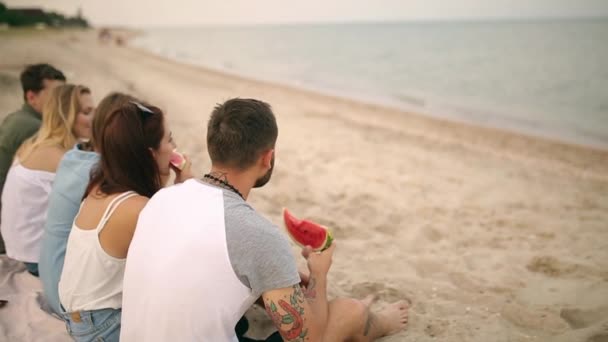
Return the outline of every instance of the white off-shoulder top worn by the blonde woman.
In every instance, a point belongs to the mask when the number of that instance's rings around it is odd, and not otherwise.
[[[15,158],[2,192],[0,230],[9,257],[38,262],[54,179],[55,173],[28,169]]]

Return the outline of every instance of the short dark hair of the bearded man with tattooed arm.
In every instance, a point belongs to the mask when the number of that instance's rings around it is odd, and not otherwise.
[[[213,163],[238,169],[253,165],[272,149],[279,129],[269,104],[231,99],[218,104],[207,125],[207,150]]]

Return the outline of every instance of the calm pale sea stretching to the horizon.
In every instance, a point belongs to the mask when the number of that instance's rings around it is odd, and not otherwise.
[[[154,29],[134,44],[231,73],[608,147],[608,19]]]

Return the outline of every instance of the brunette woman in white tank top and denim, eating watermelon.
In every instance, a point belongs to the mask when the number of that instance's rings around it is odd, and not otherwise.
[[[141,209],[169,179],[175,144],[163,112],[135,101],[106,114],[95,144],[100,159],[70,231],[58,292],[72,338],[118,341],[125,258]],[[174,169],[175,183],[191,177],[186,160]]]

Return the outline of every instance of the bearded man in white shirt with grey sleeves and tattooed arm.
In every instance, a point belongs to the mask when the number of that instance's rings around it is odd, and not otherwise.
[[[251,341],[235,326],[260,296],[278,329],[268,341],[371,341],[404,329],[405,301],[380,313],[369,310],[373,297],[328,301],[335,244],[302,250],[310,277],[300,285],[286,237],[246,201],[271,178],[277,136],[264,102],[232,99],[213,110],[209,173],[159,191],[139,216],[121,341]]]

